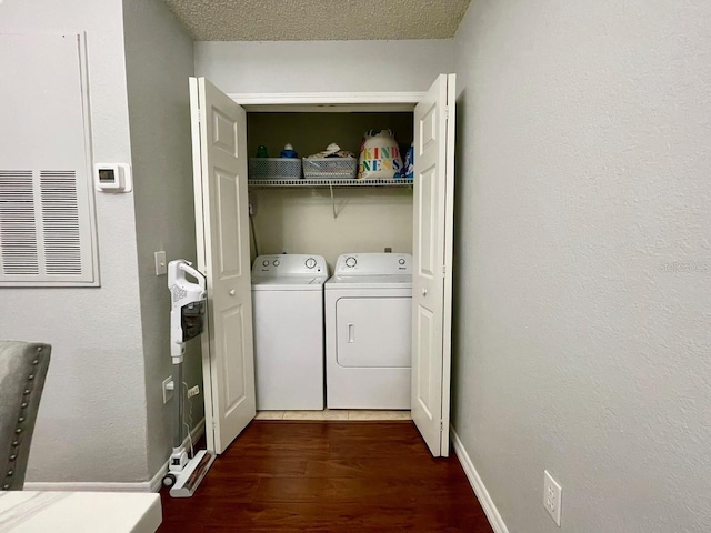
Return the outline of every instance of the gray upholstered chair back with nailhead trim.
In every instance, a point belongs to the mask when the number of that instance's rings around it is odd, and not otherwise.
[[[0,490],[24,485],[51,350],[37,342],[0,341]]]

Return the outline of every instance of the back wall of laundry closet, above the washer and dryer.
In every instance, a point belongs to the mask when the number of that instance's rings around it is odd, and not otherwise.
[[[390,129],[404,154],[412,143],[413,114],[409,111],[353,111],[322,107],[322,111],[247,111],[247,149],[250,157],[266,145],[277,157],[291,143],[300,157],[317,153],[336,142],[358,154],[367,130]],[[252,224],[260,254],[316,253],[333,266],[348,252],[412,253],[412,184],[392,180],[390,184],[343,187],[338,182],[280,185],[279,181],[250,184]],[[254,181],[251,181],[253,183]],[[312,183],[309,181],[309,183]],[[331,189],[333,185],[333,199]]]

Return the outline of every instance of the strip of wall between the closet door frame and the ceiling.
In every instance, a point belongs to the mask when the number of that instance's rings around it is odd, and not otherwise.
[[[196,42],[196,73],[223,92],[425,91],[453,41]]]

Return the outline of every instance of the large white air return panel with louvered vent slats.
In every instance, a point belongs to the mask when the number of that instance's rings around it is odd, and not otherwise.
[[[0,34],[0,286],[99,285],[84,50]]]

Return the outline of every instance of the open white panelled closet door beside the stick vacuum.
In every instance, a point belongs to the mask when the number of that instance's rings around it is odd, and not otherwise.
[[[190,78],[190,107],[198,268],[208,279],[206,434],[222,453],[256,414],[247,114],[204,78]]]

